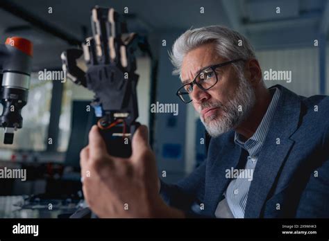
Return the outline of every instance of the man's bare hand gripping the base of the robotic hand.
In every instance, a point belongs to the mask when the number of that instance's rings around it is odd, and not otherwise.
[[[99,217],[184,217],[158,194],[155,156],[148,144],[147,127],[133,136],[133,154],[128,159],[112,157],[96,125],[89,145],[81,150],[83,194]]]

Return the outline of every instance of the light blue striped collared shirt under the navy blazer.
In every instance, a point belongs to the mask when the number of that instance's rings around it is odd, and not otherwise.
[[[239,172],[238,177],[230,181],[230,184],[224,193],[230,211],[235,218],[244,218],[244,211],[246,209],[246,202],[252,181],[253,170],[255,170],[258,155],[260,154],[260,150],[264,144],[267,132],[269,131],[269,125],[276,110],[279,98],[280,89],[275,88],[275,92],[271,103],[267,108],[267,112],[251,138],[246,141],[242,141],[242,136],[235,132],[235,143],[244,148],[244,150],[246,150],[249,154],[244,170]]]

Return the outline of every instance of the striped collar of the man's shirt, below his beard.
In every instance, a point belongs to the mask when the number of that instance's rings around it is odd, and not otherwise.
[[[276,110],[276,106],[280,98],[280,89],[273,88],[270,89],[270,91],[275,91],[273,94],[273,98],[269,104],[269,107],[267,108],[266,113],[262,118],[262,121],[260,122],[260,125],[258,125],[258,128],[253,134],[253,136],[251,136],[251,138],[246,141],[242,141],[242,136],[239,133],[235,132],[235,143],[247,150],[249,154],[251,154],[250,152],[253,152],[253,154],[258,154],[260,152],[260,149],[262,148],[262,145],[267,136],[267,132],[269,132],[269,125],[274,116],[274,112]]]

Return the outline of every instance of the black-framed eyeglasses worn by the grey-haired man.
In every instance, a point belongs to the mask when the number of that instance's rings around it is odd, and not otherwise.
[[[185,103],[191,102],[192,101],[191,93],[193,91],[194,84],[196,84],[196,86],[202,89],[203,91],[207,91],[218,82],[218,76],[216,73],[217,68],[241,60],[243,59],[231,60],[221,64],[215,64],[212,66],[205,67],[205,69],[201,69],[201,71],[199,71],[198,75],[196,75],[196,77],[192,82],[184,84],[182,87],[178,89],[176,95],[179,96],[180,100],[183,100],[183,102]]]

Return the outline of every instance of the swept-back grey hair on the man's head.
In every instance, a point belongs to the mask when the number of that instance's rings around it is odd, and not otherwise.
[[[239,40],[242,45],[239,46]],[[174,65],[174,75],[180,75],[183,58],[185,55],[203,44],[216,43],[217,53],[228,60],[242,58],[248,60],[255,58],[253,47],[246,37],[235,30],[214,25],[203,28],[189,29],[176,39],[172,52],[169,53],[171,63]],[[244,62],[233,63],[237,71],[242,71]]]

